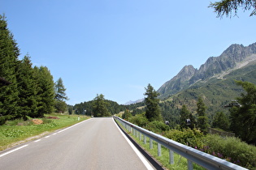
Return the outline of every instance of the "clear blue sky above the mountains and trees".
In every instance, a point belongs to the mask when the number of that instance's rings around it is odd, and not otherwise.
[[[124,104],[199,68],[232,44],[256,42],[256,16],[216,18],[207,0],[0,0],[0,13],[34,66],[67,88],[67,104],[97,94]]]

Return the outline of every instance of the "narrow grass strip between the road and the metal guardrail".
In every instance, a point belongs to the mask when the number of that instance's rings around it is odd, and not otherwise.
[[[117,121],[119,124],[119,122]],[[141,135],[141,140],[139,136],[132,135],[131,132],[126,130],[123,125],[119,124],[123,130],[126,131],[127,134],[129,134],[133,140],[135,140],[145,151],[150,153],[154,157],[154,159],[157,159],[160,164],[163,165],[164,168],[167,169],[177,169],[177,170],[183,170],[188,169],[188,160],[184,157],[174,153],[174,164],[170,164],[169,159],[169,150],[166,147],[161,147],[162,155],[158,156],[158,143],[153,142],[153,149],[150,149],[150,138],[146,138],[146,143],[144,143],[144,136]],[[197,164],[193,164],[193,169],[203,170],[205,168],[202,168],[201,166]]]

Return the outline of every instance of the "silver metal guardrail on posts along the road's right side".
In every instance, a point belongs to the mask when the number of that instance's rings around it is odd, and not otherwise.
[[[128,121],[124,121],[119,117],[114,117],[116,121],[119,121],[125,129],[129,130],[132,134],[139,136],[141,139],[141,134],[144,136],[144,143],[146,142],[146,137],[150,138],[150,149],[153,148],[153,141],[158,142],[158,156],[161,155],[161,145],[169,149],[170,164],[174,164],[174,154],[183,156],[188,160],[188,169],[193,169],[193,163],[202,166],[207,169],[239,169],[244,170],[241,166],[232,164],[224,159],[219,159],[213,155],[206,154],[205,152],[198,151],[192,147],[185,146],[180,142],[175,142],[169,138],[165,138],[159,134],[154,134],[149,130],[145,130],[137,125],[133,125]]]

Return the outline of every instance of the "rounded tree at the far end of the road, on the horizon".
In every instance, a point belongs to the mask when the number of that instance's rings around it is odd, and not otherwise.
[[[109,117],[111,113],[107,110],[108,103],[102,94],[93,99],[93,116],[94,117]]]

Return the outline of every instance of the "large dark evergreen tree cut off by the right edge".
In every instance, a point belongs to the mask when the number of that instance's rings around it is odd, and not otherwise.
[[[245,89],[238,97],[241,107],[231,108],[230,129],[246,142],[256,144],[256,86],[253,83],[236,81]]]

